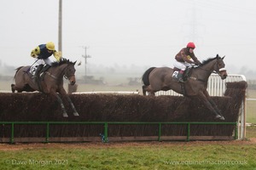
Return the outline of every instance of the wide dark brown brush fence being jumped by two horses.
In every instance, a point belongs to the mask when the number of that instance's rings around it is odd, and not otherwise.
[[[224,87],[224,86],[223,86]],[[62,117],[47,94],[0,94],[0,142],[238,139],[247,82],[226,82],[212,96],[225,120],[214,119],[198,99],[138,94],[69,94],[80,116]],[[186,103],[186,105],[182,105]]]

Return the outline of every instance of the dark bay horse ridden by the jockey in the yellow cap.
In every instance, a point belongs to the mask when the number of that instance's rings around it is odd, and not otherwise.
[[[62,115],[67,117],[67,111],[61,99],[61,97],[63,97],[64,99],[67,99],[68,103],[72,106],[73,115],[79,116],[73,102],[63,88],[63,77],[67,78],[71,85],[76,82],[75,63],[76,62],[71,62],[68,59],[61,59],[60,62],[52,63],[49,70],[45,71],[44,78],[40,78],[39,83],[41,88],[38,86],[38,83],[35,82],[35,78],[33,78],[32,74],[28,71],[30,66],[20,66],[15,72],[15,84],[11,85],[12,92],[15,93],[15,90],[18,93],[21,93],[22,91],[40,91],[44,94],[50,94],[58,100],[61,105]]]

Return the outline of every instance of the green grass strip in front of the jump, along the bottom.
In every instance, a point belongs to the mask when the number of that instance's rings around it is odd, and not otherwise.
[[[1,169],[253,169],[255,152],[256,145],[247,142],[45,144],[45,147],[43,144],[22,150],[0,150],[0,166]]]

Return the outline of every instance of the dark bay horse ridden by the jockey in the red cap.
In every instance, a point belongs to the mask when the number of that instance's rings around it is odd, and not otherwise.
[[[188,97],[197,96],[207,108],[216,115],[216,118],[224,120],[224,116],[218,110],[217,105],[210,98],[207,92],[208,78],[212,72],[224,80],[228,75],[225,69],[224,57],[218,56],[215,58],[207,59],[202,62],[198,67],[192,68],[191,74],[187,77],[187,82],[177,82],[172,77],[173,69],[169,67],[151,67],[143,74],[143,95],[148,92],[149,95],[154,95],[155,92],[160,90],[170,90],[183,94]]]

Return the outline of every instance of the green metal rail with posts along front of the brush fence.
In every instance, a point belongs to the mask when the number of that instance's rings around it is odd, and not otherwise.
[[[44,143],[49,143],[49,132],[50,132],[50,125],[73,125],[73,124],[97,124],[97,125],[104,125],[104,136],[102,138],[102,142],[107,143],[108,142],[108,125],[114,125],[114,124],[121,124],[121,125],[158,125],[158,141],[161,141],[161,126],[164,124],[172,124],[172,125],[187,125],[188,126],[188,132],[187,132],[187,138],[185,141],[190,140],[190,125],[199,125],[199,124],[205,124],[205,125],[236,125],[235,127],[235,136],[234,139],[237,139],[238,137],[238,129],[237,129],[237,122],[0,122],[2,125],[10,124],[11,125],[11,137],[10,137],[10,144],[15,143],[15,124],[45,124],[46,125],[46,134],[45,134],[45,141]]]

